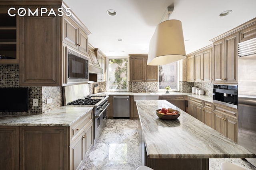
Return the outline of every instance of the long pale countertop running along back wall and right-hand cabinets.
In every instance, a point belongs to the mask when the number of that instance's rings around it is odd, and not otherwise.
[[[116,96],[132,96],[134,94],[138,94],[138,93],[132,93],[132,92],[100,92],[97,94],[93,94],[93,95],[116,95]],[[150,95],[150,93],[148,93]],[[170,92],[170,93],[166,93],[166,92],[152,92],[151,94],[158,94],[159,96],[166,96],[166,95],[186,95],[186,96],[190,96],[193,98],[198,98],[200,100],[204,100],[207,102],[212,102],[212,96],[205,96],[205,95],[196,95],[196,94],[192,94],[192,93],[181,93],[181,92]]]

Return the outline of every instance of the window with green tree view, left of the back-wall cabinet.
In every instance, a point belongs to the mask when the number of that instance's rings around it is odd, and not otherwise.
[[[128,58],[108,58],[107,91],[128,91]]]

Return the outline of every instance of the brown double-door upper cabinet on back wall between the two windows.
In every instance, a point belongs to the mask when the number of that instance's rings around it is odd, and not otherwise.
[[[129,54],[130,81],[132,82],[157,82],[158,66],[148,66],[147,54]]]

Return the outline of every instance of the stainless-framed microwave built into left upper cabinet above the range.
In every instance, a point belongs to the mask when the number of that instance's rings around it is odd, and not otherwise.
[[[89,81],[88,57],[66,47],[66,83],[83,83]]]

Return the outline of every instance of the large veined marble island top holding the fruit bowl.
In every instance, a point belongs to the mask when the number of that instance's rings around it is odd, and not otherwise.
[[[255,158],[255,154],[166,100],[136,100],[148,158]],[[181,112],[175,120],[158,118],[155,110]]]

